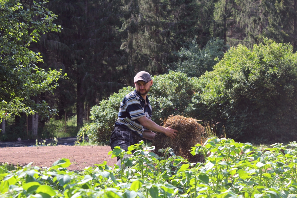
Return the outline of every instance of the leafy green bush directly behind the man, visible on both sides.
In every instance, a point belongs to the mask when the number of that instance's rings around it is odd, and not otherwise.
[[[153,111],[152,120],[160,123],[161,118],[183,114],[197,89],[197,78],[189,78],[181,72],[169,72],[152,79],[153,86],[148,94]],[[122,88],[118,94],[113,94],[108,100],[102,100],[99,105],[92,107],[90,118],[94,122],[82,127],[78,138],[88,135],[90,142],[108,142],[118,118],[120,103],[134,89]]]

